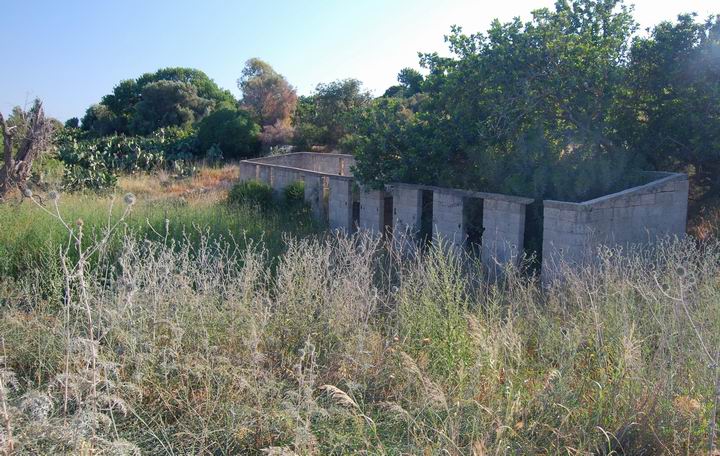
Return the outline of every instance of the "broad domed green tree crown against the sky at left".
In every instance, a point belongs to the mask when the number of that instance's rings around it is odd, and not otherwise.
[[[95,136],[148,134],[160,127],[187,126],[208,111],[232,106],[232,94],[202,71],[164,68],[121,81],[88,108],[82,128]]]

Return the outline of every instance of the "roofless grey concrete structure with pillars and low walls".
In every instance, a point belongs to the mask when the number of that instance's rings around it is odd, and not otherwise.
[[[240,162],[240,180],[259,180],[277,192],[305,182],[305,200],[331,229],[409,233],[455,247],[480,245],[486,269],[516,263],[525,250],[530,198],[452,188],[392,183],[384,190],[355,184],[351,155],[296,152]],[[542,275],[563,263],[593,261],[600,245],[644,244],[683,236],[688,179],[646,173],[644,185],[571,203],[542,201]]]

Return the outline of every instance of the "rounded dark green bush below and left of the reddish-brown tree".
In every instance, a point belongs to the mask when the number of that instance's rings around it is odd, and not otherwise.
[[[217,145],[225,158],[255,157],[260,152],[260,126],[246,111],[223,108],[198,124],[198,141],[202,151]]]

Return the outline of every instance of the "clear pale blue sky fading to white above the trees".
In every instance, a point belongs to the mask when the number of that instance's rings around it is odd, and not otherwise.
[[[485,31],[494,18],[527,19],[553,0],[2,0],[0,111],[34,97],[60,120],[81,117],[122,79],[168,66],[198,68],[239,96],[251,57],[268,61],[301,94],[354,77],[375,94],[418,51],[442,52],[453,24]],[[635,0],[642,27],[718,0]]]

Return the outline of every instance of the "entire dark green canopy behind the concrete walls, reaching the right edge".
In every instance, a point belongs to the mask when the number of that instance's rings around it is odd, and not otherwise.
[[[581,200],[690,164],[678,153],[718,163],[717,23],[634,38],[622,1],[577,0],[486,33],[454,27],[450,57],[422,54],[426,77],[404,70],[394,99],[355,116],[356,175]]]

